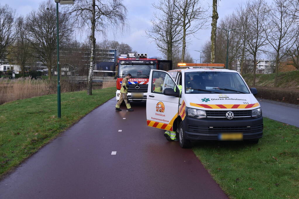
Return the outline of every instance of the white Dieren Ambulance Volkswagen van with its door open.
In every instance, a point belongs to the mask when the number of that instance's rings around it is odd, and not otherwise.
[[[164,80],[160,92],[155,91],[158,78]],[[262,110],[254,97],[257,90],[248,88],[237,71],[208,67],[151,70],[149,82],[147,125],[176,131],[182,148],[196,140],[258,143],[263,136]]]

